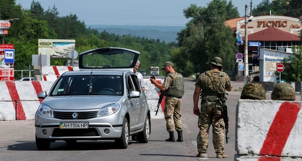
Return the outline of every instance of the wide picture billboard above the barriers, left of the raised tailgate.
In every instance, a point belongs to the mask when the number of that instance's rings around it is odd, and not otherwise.
[[[75,40],[39,39],[39,55],[50,55],[51,58],[69,58],[70,50],[75,49]]]

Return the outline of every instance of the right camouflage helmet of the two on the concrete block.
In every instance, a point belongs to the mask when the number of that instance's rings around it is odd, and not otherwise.
[[[272,100],[294,101],[295,91],[290,84],[279,83],[275,85],[271,98]]]

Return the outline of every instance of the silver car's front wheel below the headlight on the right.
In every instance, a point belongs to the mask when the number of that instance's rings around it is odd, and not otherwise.
[[[127,118],[124,118],[122,135],[120,138],[115,140],[115,143],[119,148],[125,149],[129,144],[129,124]]]

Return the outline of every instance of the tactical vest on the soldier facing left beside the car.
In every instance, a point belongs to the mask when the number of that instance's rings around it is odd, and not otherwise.
[[[163,95],[182,98],[184,96],[184,78],[180,73],[175,73],[174,76],[172,76],[172,73],[166,75],[170,76],[173,80],[168,90],[163,92]]]

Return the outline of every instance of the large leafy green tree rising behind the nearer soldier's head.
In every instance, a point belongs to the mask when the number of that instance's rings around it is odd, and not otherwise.
[[[231,28],[224,25],[224,21],[239,17],[232,2],[213,0],[207,8],[191,5],[184,10],[184,15],[191,20],[177,38],[180,50],[174,52],[174,61],[177,64],[186,62],[179,71],[184,71],[184,76],[204,72],[215,56],[223,59],[224,71],[233,69],[236,37]]]

